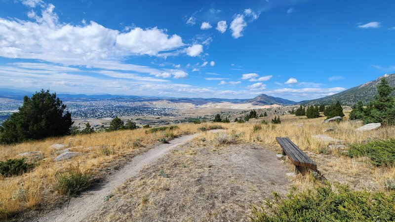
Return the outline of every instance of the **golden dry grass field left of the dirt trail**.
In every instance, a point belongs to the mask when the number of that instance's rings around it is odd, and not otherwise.
[[[41,151],[44,159],[28,173],[9,178],[0,177],[0,218],[37,207],[42,202],[53,202],[60,197],[54,190],[55,174],[70,164],[77,165],[82,171],[91,171],[99,175],[102,169],[119,165],[125,156],[135,155],[158,144],[160,138],[171,139],[184,134],[197,133],[201,126],[195,124],[179,124],[175,130],[146,133],[146,129],[123,130],[89,135],[49,138],[43,141],[26,142],[13,146],[0,147],[0,160],[15,158],[26,151]],[[74,138],[75,140],[69,140]],[[135,146],[138,141],[142,146]],[[72,151],[81,151],[82,155],[70,160],[54,162],[56,150],[49,148],[52,144],[66,144]],[[88,147],[105,147],[109,153],[100,148],[86,150]],[[123,159],[122,159],[123,157]]]

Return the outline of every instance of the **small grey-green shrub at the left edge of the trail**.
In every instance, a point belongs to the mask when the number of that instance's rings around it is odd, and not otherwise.
[[[55,189],[63,195],[76,196],[92,185],[92,174],[81,172],[79,165],[70,165],[65,172],[57,173],[55,178]]]

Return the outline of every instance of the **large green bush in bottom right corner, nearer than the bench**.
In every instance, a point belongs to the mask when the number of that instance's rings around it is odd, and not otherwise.
[[[306,192],[291,191],[286,199],[275,193],[267,211],[253,207],[253,222],[389,222],[395,219],[395,192],[351,190],[345,185],[317,187]]]

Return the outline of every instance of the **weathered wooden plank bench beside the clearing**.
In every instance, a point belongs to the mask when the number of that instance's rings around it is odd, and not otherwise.
[[[309,169],[317,170],[317,164],[289,138],[276,137],[276,141],[282,148],[282,155],[287,155],[295,165],[296,173],[304,174]]]

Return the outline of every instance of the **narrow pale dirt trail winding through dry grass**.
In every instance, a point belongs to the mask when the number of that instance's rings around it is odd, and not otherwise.
[[[214,131],[214,130],[213,130]],[[215,132],[215,131],[214,131]],[[106,178],[106,182],[96,189],[85,192],[80,197],[72,198],[68,205],[56,209],[48,215],[35,220],[39,222],[79,222],[98,209],[103,199],[127,179],[135,177],[145,166],[155,162],[168,151],[187,143],[199,134],[186,135],[161,144],[147,152],[134,156],[131,161],[119,171]]]

